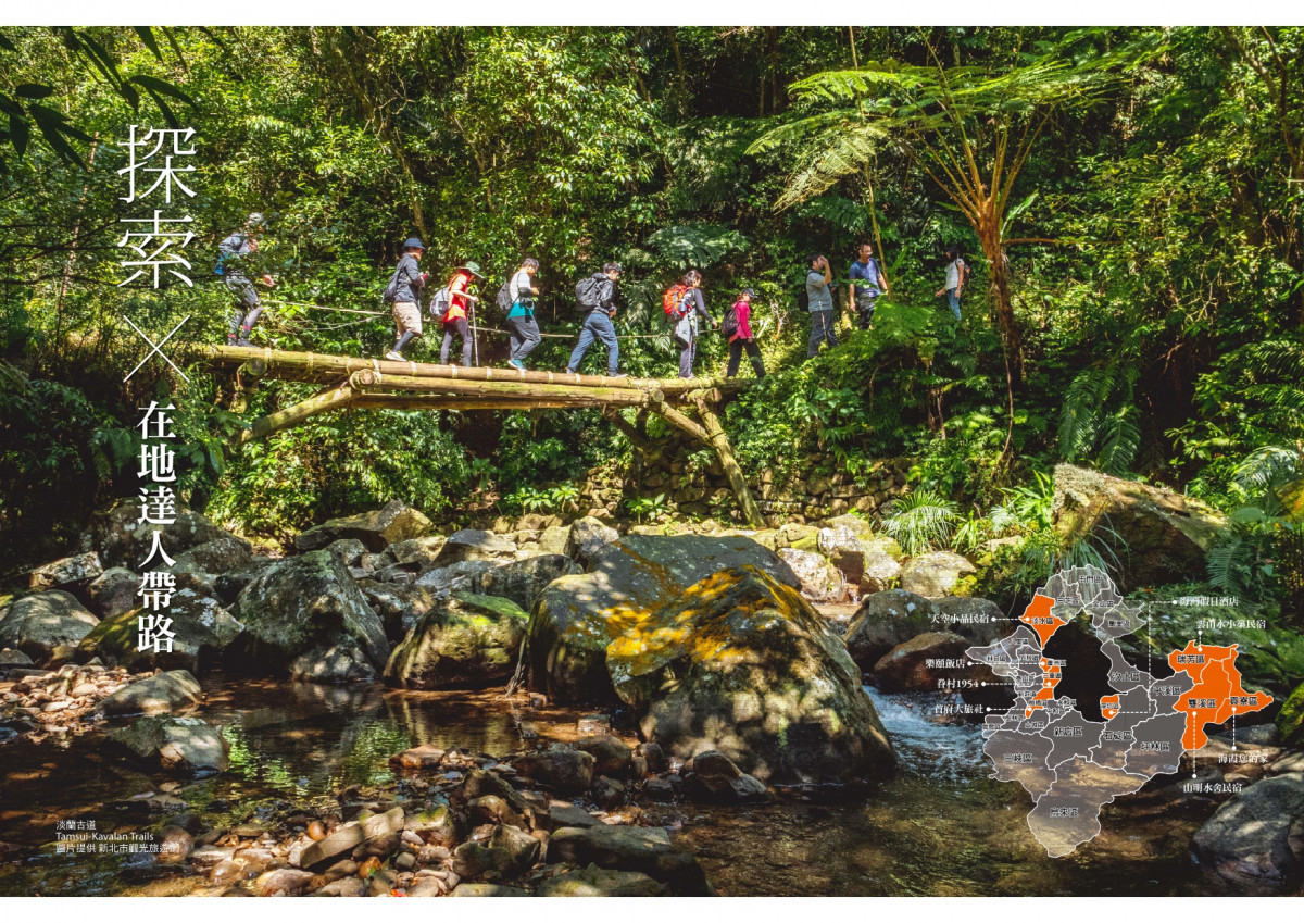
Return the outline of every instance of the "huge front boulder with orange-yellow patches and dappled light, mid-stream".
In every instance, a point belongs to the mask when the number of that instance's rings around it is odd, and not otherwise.
[[[726,568],[632,621],[606,654],[643,738],[762,781],[835,782],[896,757],[842,640],[790,585]]]

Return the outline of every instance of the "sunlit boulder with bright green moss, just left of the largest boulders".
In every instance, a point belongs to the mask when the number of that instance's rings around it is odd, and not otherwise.
[[[516,667],[529,615],[511,600],[456,593],[394,648],[385,682],[403,688],[484,686]]]

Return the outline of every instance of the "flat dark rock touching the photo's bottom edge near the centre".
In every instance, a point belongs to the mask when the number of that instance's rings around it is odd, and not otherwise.
[[[548,841],[548,862],[643,872],[685,897],[709,893],[698,860],[672,846],[670,834],[660,827],[563,827]]]

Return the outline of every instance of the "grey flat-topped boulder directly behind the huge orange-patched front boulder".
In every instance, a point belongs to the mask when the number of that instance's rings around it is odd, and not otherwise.
[[[645,613],[716,571],[751,566],[793,589],[778,555],[743,536],[625,536],[587,574],[548,584],[529,617],[529,687],[558,701],[614,699],[606,647]]]

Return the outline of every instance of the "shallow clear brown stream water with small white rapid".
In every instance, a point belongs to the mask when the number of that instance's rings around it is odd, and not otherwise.
[[[576,737],[578,709],[536,711],[488,692],[403,692],[207,677],[200,714],[232,743],[231,769],[164,791],[102,733],[0,747],[0,894],[158,893],[123,879],[119,855],[59,855],[59,820],[96,830],[156,829],[133,797],[176,797],[210,823],[239,823],[274,803],[310,806],[348,785],[393,781],[389,757],[434,743],[502,756]],[[901,772],[858,791],[786,793],[759,808],[647,804],[655,823],[698,851],[725,894],[1185,894],[1188,857],[1209,806],[1174,810],[1172,780],[1106,807],[1104,832],[1048,859],[1028,830],[1031,802],[988,778],[975,725],[940,720],[935,700],[870,690]],[[175,810],[181,810],[177,803]],[[173,881],[173,893],[201,884]]]

